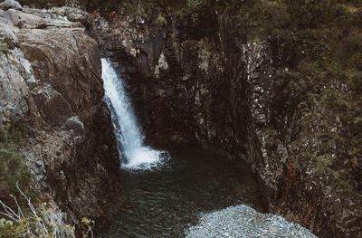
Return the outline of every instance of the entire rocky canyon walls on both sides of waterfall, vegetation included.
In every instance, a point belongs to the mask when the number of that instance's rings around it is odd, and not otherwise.
[[[118,187],[100,45],[149,144],[247,161],[269,211],[320,237],[361,236],[361,6],[174,2],[1,12],[0,120],[28,128],[39,189],[81,217]]]

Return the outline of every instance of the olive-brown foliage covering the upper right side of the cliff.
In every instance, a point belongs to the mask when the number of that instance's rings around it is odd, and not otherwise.
[[[292,108],[299,117],[293,125],[298,129],[293,139],[300,144],[294,148],[302,155],[300,145],[316,141],[318,150],[303,151],[325,153],[313,159],[315,167],[348,191],[362,188],[361,4],[341,0],[261,0],[240,7],[238,13],[252,36],[250,40],[268,41],[274,47],[273,53],[280,57],[275,67],[281,93],[276,97],[281,98],[278,107],[284,108],[276,114],[287,117],[287,108]],[[228,11],[237,14],[234,9]],[[262,14],[255,16],[256,12]],[[327,152],[333,149],[332,157]]]

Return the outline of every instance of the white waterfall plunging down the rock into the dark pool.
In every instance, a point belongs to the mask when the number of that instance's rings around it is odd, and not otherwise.
[[[165,153],[145,146],[144,136],[122,79],[110,60],[102,59],[101,62],[105,101],[110,108],[119,153],[123,155],[122,166],[131,170],[159,166],[165,158]]]

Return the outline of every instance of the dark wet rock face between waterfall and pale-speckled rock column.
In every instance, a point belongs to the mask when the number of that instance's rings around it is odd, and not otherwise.
[[[219,131],[232,133],[236,125],[231,125],[231,106],[221,100],[231,92],[224,52],[207,39],[187,36],[183,40],[188,26],[180,19],[173,19],[172,29],[148,28],[138,20],[143,30],[122,19],[112,25],[96,19],[93,27],[104,36],[103,47],[113,52],[111,57],[122,63],[129,77],[131,98],[149,132],[148,140],[156,145],[205,140],[207,145],[224,139],[224,132]]]

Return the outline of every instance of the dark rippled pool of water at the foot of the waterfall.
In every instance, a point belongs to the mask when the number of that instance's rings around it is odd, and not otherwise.
[[[248,204],[262,210],[258,186],[246,167],[202,150],[172,150],[154,171],[123,171],[128,205],[99,221],[97,237],[183,237],[203,212]]]

